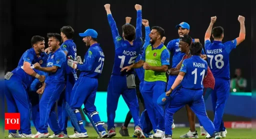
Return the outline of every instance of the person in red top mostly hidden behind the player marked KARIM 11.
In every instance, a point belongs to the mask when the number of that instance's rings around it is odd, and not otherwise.
[[[189,35],[183,35],[182,37],[180,37],[179,40],[179,47],[181,52],[184,52],[185,55],[183,56],[182,60],[177,64],[177,66],[175,68],[171,68],[171,70],[169,70],[169,74],[170,75],[178,75],[179,73],[179,69],[181,67],[181,64],[183,62],[184,59],[186,58],[190,58],[191,57],[191,53],[190,53],[190,49],[189,46],[192,42],[192,39]],[[204,60],[206,60],[206,56],[205,55],[201,55],[201,57],[203,57]],[[203,79],[203,99],[204,101],[208,98],[208,96],[210,95],[210,93],[212,92],[213,88],[214,88],[214,84],[215,84],[215,80],[214,77],[209,69],[209,67],[207,67],[207,75],[206,77]],[[169,129],[170,123],[169,123],[169,112],[168,109],[165,110],[165,133],[169,132],[167,131]],[[195,118],[194,113],[192,112],[191,108],[188,107],[187,108],[187,115],[193,115],[193,117]],[[189,117],[188,117],[189,119]],[[189,121],[191,122],[191,121]],[[189,123],[190,125],[194,125],[195,123],[195,119],[192,121],[193,123]],[[205,129],[203,128],[203,126],[201,125],[201,122],[199,121],[200,124],[200,130],[201,130],[201,135],[206,135],[207,132],[205,131]],[[190,128],[190,130],[181,135],[180,138],[198,138],[198,134],[197,131],[195,130],[195,126],[193,127],[193,129]]]

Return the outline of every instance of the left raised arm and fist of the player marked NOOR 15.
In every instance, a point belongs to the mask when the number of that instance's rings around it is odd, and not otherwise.
[[[118,30],[117,30],[114,18],[111,14],[111,11],[110,11],[110,4],[105,4],[104,7],[105,7],[105,10],[106,10],[106,14],[107,14],[107,20],[108,20],[108,23],[109,23],[110,28],[111,28],[112,37],[113,37],[113,40],[115,40],[115,38],[119,35],[119,33],[118,33]]]

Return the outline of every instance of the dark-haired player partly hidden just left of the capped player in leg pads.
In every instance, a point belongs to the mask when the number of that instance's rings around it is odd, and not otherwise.
[[[60,45],[61,50],[64,51],[66,56],[72,56],[76,60],[76,45],[73,42],[72,38],[74,35],[74,30],[71,26],[63,26],[60,28],[60,35],[63,43]],[[67,58],[66,58],[67,59]],[[62,131],[64,132],[65,138],[67,138],[67,120],[68,114],[65,110],[65,102],[69,102],[70,94],[75,80],[77,79],[76,70],[69,67],[67,62],[64,63],[64,78],[65,78],[65,89],[61,93],[58,102],[57,102],[57,111],[58,111],[58,123]]]

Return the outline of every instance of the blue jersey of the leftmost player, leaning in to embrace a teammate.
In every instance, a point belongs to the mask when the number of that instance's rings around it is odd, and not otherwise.
[[[18,61],[18,66],[22,66],[23,62],[26,61],[30,64],[38,62],[41,65],[41,67],[46,67],[47,57],[48,55],[46,52],[41,52],[39,57],[37,57],[34,48],[31,47],[22,54]]]

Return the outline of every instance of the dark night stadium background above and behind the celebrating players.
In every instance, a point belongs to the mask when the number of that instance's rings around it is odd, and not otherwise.
[[[246,1],[246,0],[245,0]],[[105,3],[110,3],[113,18],[116,21],[119,34],[125,17],[130,16],[131,24],[136,23],[135,4],[142,5],[142,18],[149,20],[149,25],[158,25],[165,29],[167,42],[177,38],[175,25],[182,21],[190,25],[189,35],[199,38],[203,44],[204,33],[211,16],[217,16],[214,26],[224,28],[223,41],[234,39],[239,34],[238,15],[245,17],[245,40],[230,53],[230,76],[235,68],[242,69],[242,75],[247,79],[247,91],[251,92],[251,12],[248,2],[233,0],[5,0],[5,72],[14,69],[22,53],[31,47],[33,35],[45,37],[46,33],[58,32],[63,25],[71,25],[75,31],[74,42],[77,55],[82,58],[87,51],[78,33],[87,28],[98,32],[98,42],[105,54],[104,67],[99,78],[98,91],[106,91],[111,75],[114,46],[110,27],[107,22]],[[144,37],[142,25],[142,35]],[[212,39],[212,38],[211,38]],[[187,120],[185,109],[175,116],[181,121]],[[212,118],[212,113],[208,114]],[[224,120],[250,120],[240,116],[226,114]]]

